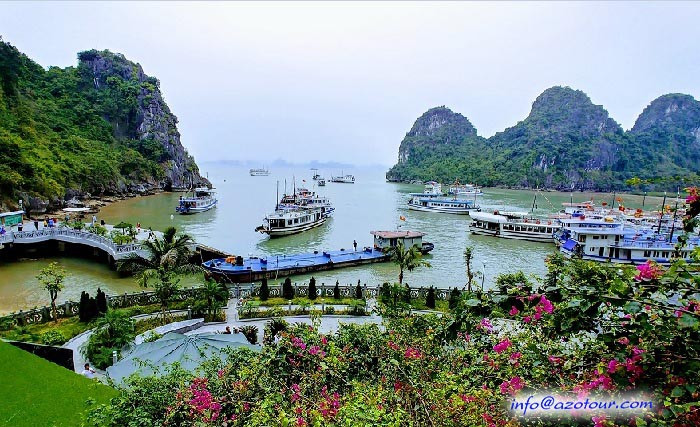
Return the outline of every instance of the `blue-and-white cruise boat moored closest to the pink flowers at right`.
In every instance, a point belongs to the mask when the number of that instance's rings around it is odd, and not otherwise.
[[[675,230],[672,230],[675,231]],[[557,234],[559,250],[567,256],[591,261],[643,264],[653,260],[668,264],[678,243],[678,232],[659,232],[648,227],[615,224],[608,227],[568,227]],[[680,257],[690,258],[700,238],[692,236],[681,249]]]

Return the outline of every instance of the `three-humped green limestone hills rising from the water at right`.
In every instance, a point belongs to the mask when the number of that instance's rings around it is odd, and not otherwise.
[[[442,120],[430,119],[436,110]],[[387,178],[560,190],[629,188],[633,177],[673,189],[698,181],[700,103],[688,95],[655,100],[629,132],[568,87],[547,89],[528,117],[488,139],[445,107],[428,113],[402,141]],[[416,130],[423,131],[420,141]]]

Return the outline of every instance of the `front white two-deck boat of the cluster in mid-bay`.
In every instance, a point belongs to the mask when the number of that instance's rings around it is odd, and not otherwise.
[[[303,209],[298,206],[279,206],[267,215],[263,224],[255,229],[270,237],[289,236],[323,225],[328,215],[319,208]]]

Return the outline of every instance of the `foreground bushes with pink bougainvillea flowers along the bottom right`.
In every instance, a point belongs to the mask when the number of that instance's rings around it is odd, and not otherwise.
[[[134,377],[100,426],[504,426],[515,394],[647,392],[649,412],[559,412],[534,425],[698,425],[697,263],[663,271],[554,256],[545,278],[503,275],[450,314],[394,312],[335,334],[293,325],[261,353]],[[267,330],[268,328],[266,328]]]

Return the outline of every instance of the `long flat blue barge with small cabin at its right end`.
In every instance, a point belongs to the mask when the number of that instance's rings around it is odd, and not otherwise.
[[[314,251],[312,253],[267,257],[230,256],[206,261],[202,264],[206,275],[219,282],[245,283],[262,279],[292,276],[315,271],[354,267],[357,265],[390,260],[387,250],[403,243],[405,247],[417,246],[423,254],[433,250],[432,243],[423,242],[425,233],[418,231],[372,231],[374,246],[353,251]]]

